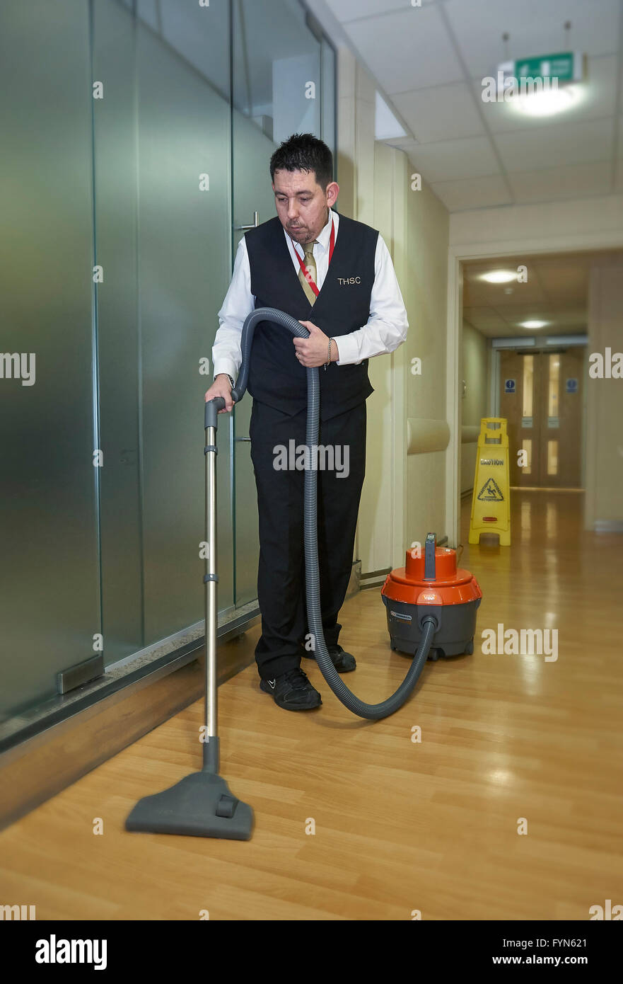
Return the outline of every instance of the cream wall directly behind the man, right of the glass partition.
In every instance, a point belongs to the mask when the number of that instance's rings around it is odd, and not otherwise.
[[[372,358],[368,374],[367,473],[356,556],[362,572],[404,565],[429,530],[445,535],[445,452],[407,455],[409,418],[445,428],[445,332],[449,215],[427,189],[411,191],[404,152],[374,141],[375,86],[347,49],[338,60],[338,210],[377,228],[387,243],[407,314],[407,341]],[[422,375],[411,360],[422,359]],[[430,423],[428,424],[428,421]],[[417,446],[417,441],[412,444]]]

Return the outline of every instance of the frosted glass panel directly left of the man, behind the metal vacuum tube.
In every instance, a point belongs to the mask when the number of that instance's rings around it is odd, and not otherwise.
[[[164,4],[165,40],[139,22],[139,284],[144,643],[203,613],[203,395],[231,273],[230,106],[191,34],[228,47],[226,3]],[[209,22],[207,19],[209,18]],[[173,48],[175,41],[177,47]],[[206,72],[203,72],[203,67]],[[218,432],[218,603],[233,604],[231,417]]]

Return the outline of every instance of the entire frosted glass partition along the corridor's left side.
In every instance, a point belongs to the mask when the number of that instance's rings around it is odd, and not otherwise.
[[[95,654],[197,638],[217,312],[277,143],[334,148],[314,31],[298,0],[0,10],[0,723]],[[256,594],[250,410],[219,418],[221,615]]]

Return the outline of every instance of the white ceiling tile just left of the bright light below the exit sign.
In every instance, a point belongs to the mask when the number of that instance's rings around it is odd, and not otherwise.
[[[484,135],[481,116],[466,83],[400,92],[392,102],[420,144]]]

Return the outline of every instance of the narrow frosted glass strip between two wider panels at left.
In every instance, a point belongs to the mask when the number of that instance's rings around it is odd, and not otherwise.
[[[93,3],[94,187],[104,663],[142,648],[135,20]]]

